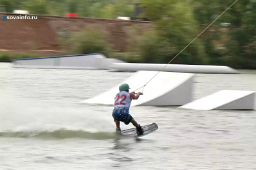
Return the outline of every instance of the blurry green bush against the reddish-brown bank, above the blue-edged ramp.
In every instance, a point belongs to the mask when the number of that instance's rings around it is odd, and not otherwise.
[[[74,33],[71,38],[73,53],[102,53],[109,56],[111,47],[105,40],[100,28],[96,25],[87,26],[82,31]]]

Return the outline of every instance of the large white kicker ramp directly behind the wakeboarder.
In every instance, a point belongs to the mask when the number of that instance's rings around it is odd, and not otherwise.
[[[156,71],[138,71],[133,76],[123,81],[131,87],[130,92],[143,87],[153,76]],[[192,85],[194,74],[178,72],[160,72],[155,76],[143,89],[138,100],[133,100],[133,106],[179,106],[184,105],[192,100]],[[121,85],[120,83],[119,85]],[[95,98],[86,99],[81,103],[94,103],[102,105],[113,105],[114,96],[119,92],[118,87],[104,92]],[[138,92],[137,91],[137,92]]]

